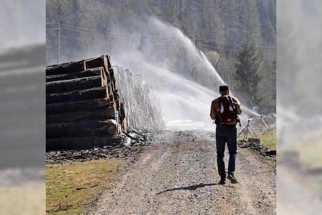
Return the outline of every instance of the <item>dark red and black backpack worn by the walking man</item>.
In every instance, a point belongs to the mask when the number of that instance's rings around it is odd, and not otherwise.
[[[225,95],[218,97],[218,108],[216,110],[217,116],[215,119],[215,124],[221,124],[221,123],[229,123],[232,121],[239,122],[240,120],[237,115],[237,110],[234,105],[234,102],[232,101],[232,98],[230,95]]]

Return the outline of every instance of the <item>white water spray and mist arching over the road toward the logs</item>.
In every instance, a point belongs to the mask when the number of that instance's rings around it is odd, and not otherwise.
[[[198,73],[202,71],[206,73],[206,76],[200,78],[200,83],[208,81],[209,75],[213,76],[215,86],[224,84],[223,79],[206,55],[198,50],[180,29],[153,17],[148,24],[142,23],[142,29],[148,35],[170,35],[178,41],[176,43],[178,45],[161,46],[151,43],[149,45],[127,45],[122,48],[119,46],[111,50],[114,63],[122,64],[123,67],[131,69],[133,73],[142,73],[147,83],[157,85],[157,94],[162,95],[161,100],[167,121],[173,121],[179,117],[183,120],[195,118],[207,124],[209,116],[205,113],[209,111],[211,101],[219,96],[219,93],[190,79],[190,74],[185,73],[192,66],[190,59],[196,61],[194,65],[197,66]],[[126,32],[126,29],[124,31]],[[124,42],[128,43],[128,41]],[[182,50],[185,51],[185,55],[182,55]],[[192,103],[197,104],[198,107]],[[248,119],[247,112],[260,116],[245,106],[244,110],[246,115],[243,112],[243,117],[240,117],[244,120]]]

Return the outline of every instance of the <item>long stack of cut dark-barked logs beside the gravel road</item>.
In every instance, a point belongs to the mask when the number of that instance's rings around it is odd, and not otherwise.
[[[125,108],[127,99],[121,98],[114,75],[108,55],[46,68],[47,151],[116,146],[129,126],[157,125],[158,128],[163,128],[164,122],[147,122],[142,117],[144,113],[135,113],[141,112],[136,108],[141,107],[137,105],[137,99],[141,102],[142,97],[131,97],[144,94],[144,100],[147,95],[142,93],[142,87],[138,87],[137,82],[136,85],[134,82],[128,85],[131,88],[130,96],[123,93],[125,98],[131,98],[129,101],[135,103],[128,106],[131,110]],[[118,73],[118,78],[120,75]],[[126,83],[124,80],[118,81],[123,85]],[[148,102],[145,104],[151,105]],[[148,117],[153,117],[151,109],[145,108]],[[129,120],[127,116],[133,118]],[[137,118],[138,116],[141,118]],[[140,123],[136,124],[136,121]],[[127,124],[128,122],[130,123]]]

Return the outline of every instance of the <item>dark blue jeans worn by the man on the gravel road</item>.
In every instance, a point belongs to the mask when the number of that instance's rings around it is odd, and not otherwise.
[[[237,157],[237,128],[231,125],[216,126],[216,149],[217,149],[217,165],[218,174],[226,176],[224,152],[225,144],[229,152],[228,174],[234,174]]]

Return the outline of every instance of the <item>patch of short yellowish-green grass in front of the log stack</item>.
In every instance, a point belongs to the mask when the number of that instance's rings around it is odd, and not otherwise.
[[[124,160],[104,159],[46,165],[46,213],[78,214],[93,208],[94,200],[110,187],[121,163]]]

